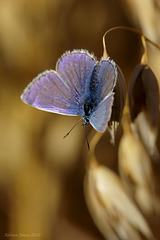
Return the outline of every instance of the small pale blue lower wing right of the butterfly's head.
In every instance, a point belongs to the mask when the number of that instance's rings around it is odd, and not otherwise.
[[[111,117],[114,93],[109,93],[90,116],[90,124],[98,132],[104,132]]]

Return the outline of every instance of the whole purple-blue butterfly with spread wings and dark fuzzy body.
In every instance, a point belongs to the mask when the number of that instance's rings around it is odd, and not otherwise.
[[[117,65],[110,57],[97,61],[87,50],[64,53],[56,70],[40,73],[26,87],[23,102],[47,112],[81,116],[83,125],[91,124],[104,132],[111,117]]]

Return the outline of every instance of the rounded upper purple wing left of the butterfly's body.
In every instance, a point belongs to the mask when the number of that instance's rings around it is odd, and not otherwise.
[[[74,50],[64,54],[58,61],[56,70],[69,85],[72,94],[82,104],[91,79],[96,59],[85,50]]]

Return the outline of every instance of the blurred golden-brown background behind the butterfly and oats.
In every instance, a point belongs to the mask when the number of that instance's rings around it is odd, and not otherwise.
[[[20,95],[67,50],[87,49],[100,59],[111,27],[138,28],[160,44],[159,22],[159,0],[0,0],[0,239],[103,239],[83,196],[81,124],[63,139],[79,118],[36,110]],[[128,83],[142,52],[139,38],[117,31],[106,43]],[[149,45],[148,59],[160,79],[160,51]],[[114,171],[121,134],[120,127],[112,146],[106,132],[97,146],[99,161]]]

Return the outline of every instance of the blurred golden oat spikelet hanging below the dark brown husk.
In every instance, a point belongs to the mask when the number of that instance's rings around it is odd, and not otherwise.
[[[152,213],[155,194],[151,160],[140,139],[132,132],[121,138],[118,159],[120,175],[127,190],[143,212]]]

